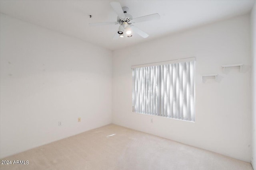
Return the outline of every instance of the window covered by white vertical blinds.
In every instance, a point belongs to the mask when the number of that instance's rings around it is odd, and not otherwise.
[[[195,121],[195,61],[132,66],[132,111]]]

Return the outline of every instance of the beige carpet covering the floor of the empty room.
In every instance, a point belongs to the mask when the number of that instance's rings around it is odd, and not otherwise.
[[[247,162],[113,124],[2,160],[29,164],[1,170],[252,170]]]

